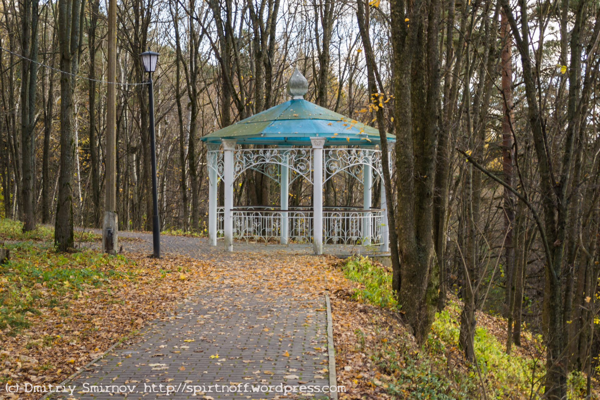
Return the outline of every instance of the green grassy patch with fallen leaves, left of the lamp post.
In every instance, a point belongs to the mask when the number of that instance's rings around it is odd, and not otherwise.
[[[134,263],[122,255],[56,252],[52,242],[34,240],[5,247],[10,260],[0,264],[0,330],[8,328],[11,335],[29,327],[27,317],[40,314],[42,308],[58,307],[66,315],[69,299],[85,296],[112,279],[135,275],[134,269],[127,268]]]

